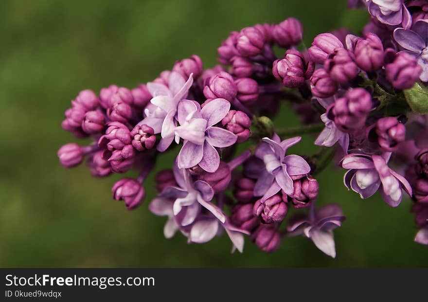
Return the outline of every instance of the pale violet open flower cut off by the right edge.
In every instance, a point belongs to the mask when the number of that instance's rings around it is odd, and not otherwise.
[[[428,20],[419,20],[410,29],[397,28],[394,39],[408,53],[418,60],[422,67],[419,76],[422,82],[428,82]]]

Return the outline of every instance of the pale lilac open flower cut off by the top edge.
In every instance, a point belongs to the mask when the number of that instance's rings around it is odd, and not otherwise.
[[[411,15],[403,0],[367,0],[370,15],[386,25],[411,26]]]

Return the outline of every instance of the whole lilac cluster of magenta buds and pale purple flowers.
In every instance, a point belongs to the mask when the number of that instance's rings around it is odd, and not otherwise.
[[[217,50],[221,65],[212,69],[193,55],[134,89],[81,91],[62,127],[92,143],[62,146],[59,160],[74,167],[86,157],[95,177],[136,169],[137,178],[112,187],[113,198],[133,210],[158,157],[174,150],[149,203],[167,217],[166,238],[179,231],[189,243],[204,243],[226,232],[242,252],[249,235],[272,252],[285,237],[302,234],[335,257],[332,231],[345,216],[337,204],[317,209],[314,178],[333,160],[361,198],[379,191],[395,207],[409,195],[420,229],[415,240],[428,244],[428,6],[349,4],[371,15],[361,36],[323,33],[299,51],[299,20],[256,24],[230,33]],[[281,103],[301,126],[274,126]],[[318,153],[290,152],[310,133],[318,135]],[[237,153],[239,144],[244,151]]]

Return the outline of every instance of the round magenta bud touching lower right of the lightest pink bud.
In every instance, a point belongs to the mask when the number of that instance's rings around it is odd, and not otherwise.
[[[344,48],[337,49],[324,62],[324,69],[340,84],[347,84],[358,75],[358,66],[351,53]]]

